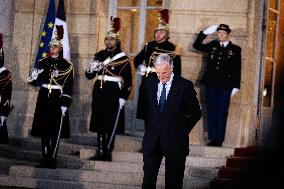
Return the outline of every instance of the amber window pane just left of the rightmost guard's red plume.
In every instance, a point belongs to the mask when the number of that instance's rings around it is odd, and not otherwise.
[[[159,11],[147,10],[146,26],[145,26],[145,42],[152,41],[154,39],[154,31],[159,24]]]

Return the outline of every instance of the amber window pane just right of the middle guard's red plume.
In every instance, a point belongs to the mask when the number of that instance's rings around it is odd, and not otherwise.
[[[137,53],[139,11],[118,10],[117,16],[121,18],[119,34],[123,51],[126,53]]]

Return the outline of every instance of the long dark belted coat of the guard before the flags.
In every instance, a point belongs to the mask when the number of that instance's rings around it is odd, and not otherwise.
[[[43,69],[32,85],[40,86],[31,134],[57,136],[61,122],[61,106],[69,107],[73,92],[73,64],[62,57],[45,58],[38,62]],[[70,137],[68,110],[65,113],[61,138]]]

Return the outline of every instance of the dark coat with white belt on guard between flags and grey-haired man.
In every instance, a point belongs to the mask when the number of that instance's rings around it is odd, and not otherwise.
[[[94,60],[105,64],[102,64],[102,68],[98,71],[87,70],[85,73],[87,79],[95,78],[89,130],[111,134],[118,113],[119,98],[127,100],[131,92],[131,66],[128,57],[119,47],[112,51],[107,49],[99,51],[95,54]],[[117,133],[123,132],[124,108],[121,110],[117,126]]]

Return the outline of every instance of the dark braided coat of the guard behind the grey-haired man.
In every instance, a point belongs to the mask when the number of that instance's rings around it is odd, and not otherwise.
[[[153,67],[153,63],[155,58],[162,54],[166,53],[171,56],[174,65],[174,74],[180,76],[181,75],[181,58],[176,54],[176,46],[169,42],[168,39],[163,43],[157,43],[156,41],[151,41],[147,43],[144,48],[138,53],[138,55],[134,58],[134,66],[137,69],[140,64],[145,62],[146,67]],[[141,85],[139,87],[139,96],[138,96],[138,104],[137,104],[137,115],[138,119],[145,120],[145,110],[143,108],[143,97],[144,92],[142,91],[141,86],[144,83],[144,80],[149,75],[155,74],[153,72],[146,73],[142,77]]]

